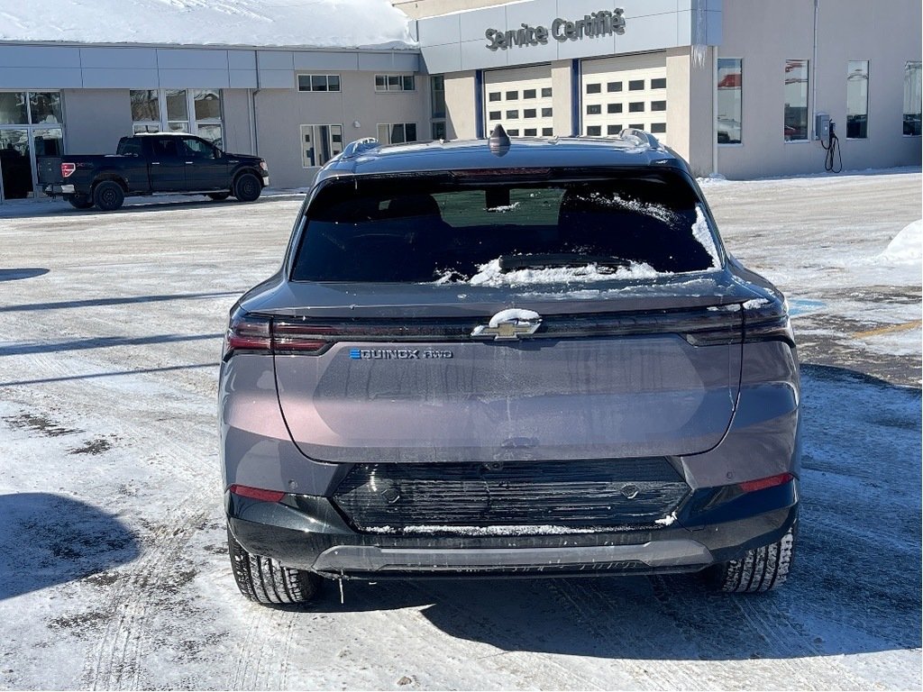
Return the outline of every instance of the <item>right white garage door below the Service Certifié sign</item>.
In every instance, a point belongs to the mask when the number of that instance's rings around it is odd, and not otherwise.
[[[581,73],[582,134],[638,127],[666,142],[666,54],[584,60]]]

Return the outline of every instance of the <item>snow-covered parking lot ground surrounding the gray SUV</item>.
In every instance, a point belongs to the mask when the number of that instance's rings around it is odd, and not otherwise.
[[[215,424],[226,311],[278,264],[299,200],[0,207],[0,688],[919,689],[919,247],[881,254],[920,185],[705,185],[798,314],[785,589],[351,583],[303,613],[234,587]]]

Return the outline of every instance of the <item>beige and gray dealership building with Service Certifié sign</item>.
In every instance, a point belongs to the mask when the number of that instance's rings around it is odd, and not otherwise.
[[[918,0],[391,5],[405,35],[362,47],[0,36],[0,200],[41,197],[39,156],[166,130],[257,153],[273,186],[294,188],[353,139],[495,125],[511,137],[638,127],[696,173],[731,179],[823,172],[831,126],[844,170],[920,163]]]

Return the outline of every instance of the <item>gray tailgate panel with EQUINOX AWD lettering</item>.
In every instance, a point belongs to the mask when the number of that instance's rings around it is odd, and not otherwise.
[[[344,462],[603,459],[692,454],[725,435],[739,306],[548,316],[532,334],[473,338],[489,319],[351,322],[322,328],[334,336],[320,355],[277,352],[295,443]]]

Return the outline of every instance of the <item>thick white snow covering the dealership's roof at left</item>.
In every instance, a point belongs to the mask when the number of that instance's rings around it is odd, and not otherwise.
[[[0,41],[414,45],[407,17],[388,0],[42,0],[38,6],[0,0]]]

